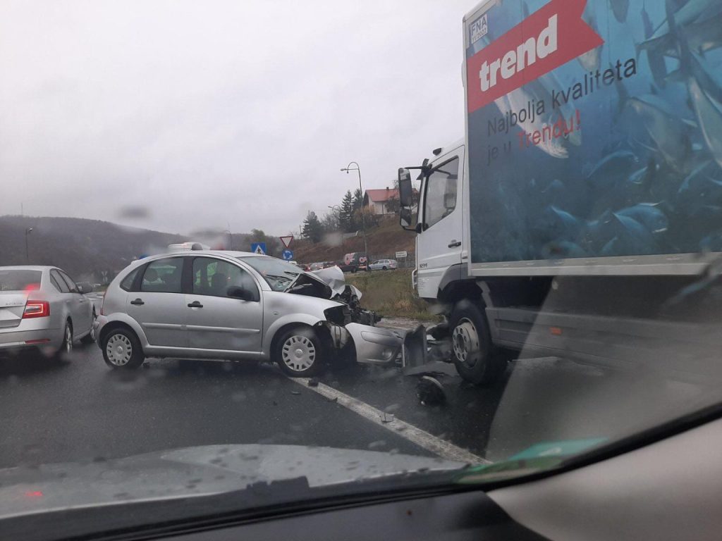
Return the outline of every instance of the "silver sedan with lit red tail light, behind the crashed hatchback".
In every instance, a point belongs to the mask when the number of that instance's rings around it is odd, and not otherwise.
[[[39,349],[59,357],[75,340],[92,342],[91,291],[59,268],[0,267],[0,353]]]

